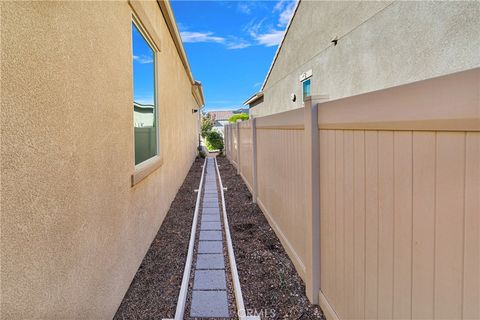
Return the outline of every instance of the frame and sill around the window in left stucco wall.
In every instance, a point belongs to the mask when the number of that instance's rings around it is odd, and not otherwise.
[[[134,123],[134,114],[132,110],[132,139],[133,139],[133,159],[132,162],[134,164],[134,173],[131,175],[131,186],[135,186],[137,183],[145,179],[148,175],[150,175],[153,171],[160,168],[163,164],[163,158],[161,157],[161,144],[160,144],[160,104],[158,101],[158,56],[160,54],[160,48],[156,45],[156,42],[153,38],[149,35],[148,31],[141,23],[140,19],[137,15],[132,12],[132,19],[130,22],[131,31],[130,34],[133,36],[133,26],[137,28],[140,32],[144,40],[147,42],[148,46],[153,51],[153,64],[154,64],[154,89],[153,89],[153,99],[154,99],[154,117],[156,122],[156,153],[154,156],[135,164],[135,123]],[[131,68],[132,68],[132,107],[134,101],[134,92],[133,92],[133,38],[132,38],[132,51],[131,51]]]

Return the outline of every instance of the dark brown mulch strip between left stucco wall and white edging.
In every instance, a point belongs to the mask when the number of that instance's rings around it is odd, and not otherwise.
[[[175,316],[203,162],[190,168],[114,319]]]

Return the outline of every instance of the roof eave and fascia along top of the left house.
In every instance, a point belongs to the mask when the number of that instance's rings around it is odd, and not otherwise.
[[[175,16],[173,15],[172,7],[170,6],[170,1],[157,0],[157,3],[160,7],[160,10],[162,11],[163,18],[167,23],[168,31],[170,31],[170,35],[172,36],[175,47],[177,48],[178,55],[180,56],[183,67],[185,68],[187,76],[190,79],[190,83],[192,84],[192,94],[195,97],[195,100],[197,101],[199,106],[203,106],[205,104],[205,99],[203,97],[202,84],[193,78],[192,70],[190,69],[190,64],[188,63],[187,54],[185,53],[185,49],[183,47],[182,38],[180,37],[180,33],[178,32]]]

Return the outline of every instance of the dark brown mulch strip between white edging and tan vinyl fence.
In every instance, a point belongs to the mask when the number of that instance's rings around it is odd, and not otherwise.
[[[236,169],[217,157],[245,308],[262,319],[323,319]]]

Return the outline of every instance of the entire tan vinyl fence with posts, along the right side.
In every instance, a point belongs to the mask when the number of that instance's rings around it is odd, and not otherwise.
[[[474,69],[228,126],[328,319],[480,318],[479,97]]]

